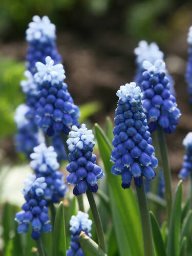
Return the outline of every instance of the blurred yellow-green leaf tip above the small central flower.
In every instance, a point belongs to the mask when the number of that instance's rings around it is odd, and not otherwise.
[[[83,104],[79,106],[79,110],[81,113],[81,117],[79,118],[79,122],[82,123],[85,119],[95,114],[102,108],[102,104],[99,101],[94,101],[90,103]]]

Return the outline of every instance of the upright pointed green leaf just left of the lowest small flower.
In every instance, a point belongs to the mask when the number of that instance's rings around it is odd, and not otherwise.
[[[54,223],[54,252],[57,256],[66,256],[66,230],[64,219],[64,207],[60,202],[57,208]]]

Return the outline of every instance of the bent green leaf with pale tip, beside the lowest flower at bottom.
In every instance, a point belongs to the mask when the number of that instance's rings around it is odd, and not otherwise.
[[[86,232],[81,231],[79,242],[85,256],[107,256],[98,244],[87,236]]]

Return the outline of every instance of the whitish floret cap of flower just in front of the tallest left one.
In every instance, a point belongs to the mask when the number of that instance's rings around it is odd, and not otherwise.
[[[43,82],[50,82],[52,86],[62,82],[65,76],[65,70],[61,63],[54,65],[54,60],[50,57],[46,57],[46,63],[36,62],[37,73],[34,75],[35,81],[38,84]]]

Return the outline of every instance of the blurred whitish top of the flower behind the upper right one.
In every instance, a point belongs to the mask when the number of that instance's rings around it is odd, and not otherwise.
[[[159,50],[158,45],[155,42],[148,44],[147,41],[142,40],[139,42],[139,46],[134,50],[137,65],[142,69],[144,60],[148,60],[151,63],[155,63],[157,59],[163,60],[164,54]]]

